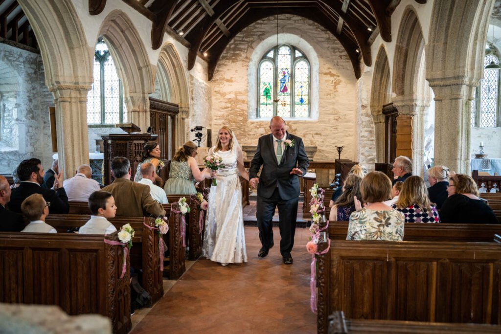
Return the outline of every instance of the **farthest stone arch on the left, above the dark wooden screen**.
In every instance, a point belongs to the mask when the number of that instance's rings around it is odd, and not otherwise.
[[[190,94],[185,70],[179,54],[171,43],[166,43],[160,51],[157,65],[160,91],[168,92],[169,102],[179,105],[176,119],[175,145],[182,145],[186,140],[186,119],[189,117]]]

